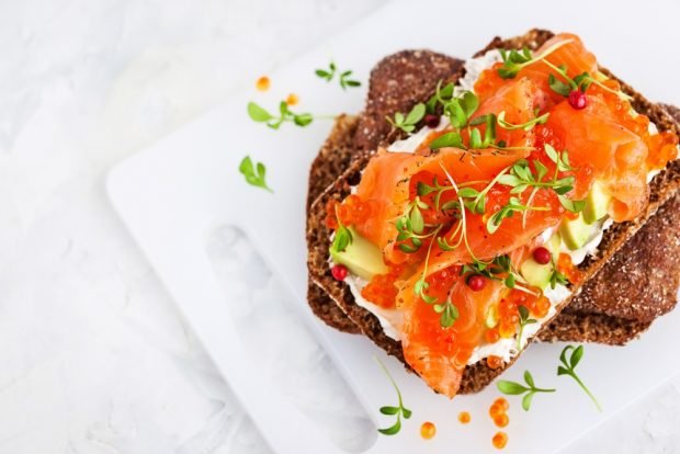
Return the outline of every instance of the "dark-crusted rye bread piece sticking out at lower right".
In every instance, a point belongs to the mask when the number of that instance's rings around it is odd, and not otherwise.
[[[672,310],[680,286],[678,226],[680,194],[583,285],[539,340],[623,345]]]

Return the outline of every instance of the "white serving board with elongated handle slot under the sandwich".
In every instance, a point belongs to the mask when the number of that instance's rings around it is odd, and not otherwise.
[[[107,190],[114,206],[274,451],[340,452],[321,434],[301,430],[309,427],[309,421],[275,393],[268,391],[257,362],[239,348],[240,339],[230,325],[205,250],[206,232],[217,225],[233,224],[250,236],[287,284],[299,303],[301,316],[308,319],[369,415],[379,418],[377,409],[393,404],[395,397],[373,361],[373,355],[384,355],[364,339],[322,326],[305,302],[307,171],[330,122],[319,121],[306,128],[285,124],[274,132],[248,118],[247,102],[254,100],[274,110],[280,99],[295,92],[302,100],[297,111],[355,113],[362,107],[366,83],[360,90],[342,92],[317,79],[315,68],[333,58],[365,81],[372,66],[396,50],[427,47],[468,56],[494,35],[515,35],[540,25],[580,34],[605,66],[643,93],[680,104],[676,84],[678,59],[672,54],[667,56],[667,46],[655,45],[680,37],[675,24],[680,7],[670,1],[661,3],[655,3],[654,10],[621,1],[590,2],[588,8],[532,1],[522,2],[521,9],[515,2],[390,3],[271,75],[272,91],[262,94],[248,87],[228,104],[112,170]],[[243,182],[237,168],[245,155],[267,163],[274,194]],[[625,349],[587,348],[579,370],[603,402],[603,413],[598,413],[567,378],[555,377],[562,345],[533,345],[506,377],[519,379],[522,371],[529,368],[537,383],[557,384],[559,391],[549,398],[537,397],[529,413],[519,410],[517,399],[511,400],[512,421],[507,429],[510,443],[505,452],[554,452],[678,373],[680,363],[665,361],[665,356],[667,345],[677,344],[679,328],[680,314],[676,313],[664,317],[644,339]],[[400,384],[415,417],[409,421],[409,430],[398,436],[378,438],[367,452],[494,451],[490,438],[497,429],[487,417],[488,406],[498,396],[494,386],[479,395],[450,401],[403,372],[393,360],[384,361]],[[473,412],[473,423],[457,423],[461,410]],[[280,416],[284,411],[286,423],[282,424]],[[423,442],[417,430],[424,420],[438,424],[438,435],[429,442]],[[385,420],[378,425],[385,425]],[[299,436],[301,433],[305,435]]]

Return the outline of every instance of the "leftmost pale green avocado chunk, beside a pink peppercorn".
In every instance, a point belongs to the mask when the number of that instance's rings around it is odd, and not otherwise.
[[[352,227],[352,242],[343,251],[330,251],[333,263],[343,264],[348,270],[361,279],[370,281],[376,274],[387,274],[387,266],[383,262],[383,251],[360,236]]]

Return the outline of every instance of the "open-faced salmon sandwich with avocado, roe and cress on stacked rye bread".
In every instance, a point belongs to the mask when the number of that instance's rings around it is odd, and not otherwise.
[[[310,306],[450,397],[535,338],[627,341],[677,298],[673,113],[570,34],[386,59],[311,169]]]

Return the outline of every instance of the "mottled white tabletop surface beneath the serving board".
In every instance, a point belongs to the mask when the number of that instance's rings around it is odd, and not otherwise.
[[[269,452],[115,217],[103,177],[383,3],[0,2],[0,453]],[[240,234],[209,248],[230,298],[275,300],[263,316],[288,321],[279,336],[297,332]],[[304,334],[288,341],[298,373],[268,370],[306,389],[304,406],[340,444],[370,441],[322,351]],[[568,452],[680,452],[680,378]]]

